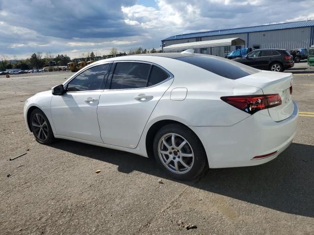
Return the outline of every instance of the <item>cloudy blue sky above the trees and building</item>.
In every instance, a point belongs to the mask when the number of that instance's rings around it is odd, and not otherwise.
[[[314,20],[314,0],[0,0],[0,57],[160,48],[169,36]]]

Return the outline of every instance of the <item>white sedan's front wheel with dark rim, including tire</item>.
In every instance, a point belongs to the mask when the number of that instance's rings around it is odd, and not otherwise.
[[[49,120],[40,109],[31,112],[29,124],[37,142],[50,144],[55,140]]]

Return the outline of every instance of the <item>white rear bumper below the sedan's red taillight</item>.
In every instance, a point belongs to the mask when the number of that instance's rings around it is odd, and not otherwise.
[[[269,162],[292,142],[298,124],[295,102],[292,115],[274,121],[267,110],[246,118],[233,126],[190,127],[202,141],[210,168],[252,166]],[[256,156],[275,154],[253,160]]]

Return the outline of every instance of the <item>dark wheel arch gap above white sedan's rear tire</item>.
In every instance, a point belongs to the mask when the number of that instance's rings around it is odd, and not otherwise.
[[[160,130],[160,128],[162,128],[163,126],[168,125],[168,124],[172,124],[172,123],[173,124],[180,124],[180,125],[187,127],[188,129],[190,129],[195,134],[197,139],[200,141],[200,143],[202,144],[202,147],[204,149],[204,152],[206,153],[202,141],[200,140],[200,138],[197,136],[197,134],[191,128],[189,128],[187,125],[183,124],[180,121],[176,121],[176,120],[172,120],[172,119],[164,119],[164,120],[159,120],[159,121],[155,122],[147,131],[146,140],[145,140],[145,147],[146,147],[146,152],[147,152],[148,157],[154,156],[153,141],[154,141],[154,138],[157,134],[157,131]],[[206,161],[208,163],[208,158],[206,158]]]

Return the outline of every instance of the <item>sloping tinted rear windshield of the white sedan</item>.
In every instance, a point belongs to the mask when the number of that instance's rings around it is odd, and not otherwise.
[[[218,56],[194,55],[179,57],[176,58],[176,60],[184,61],[204,70],[213,72],[219,76],[230,79],[238,79],[259,72],[259,70],[256,70],[252,67]]]

